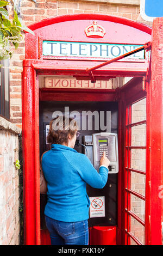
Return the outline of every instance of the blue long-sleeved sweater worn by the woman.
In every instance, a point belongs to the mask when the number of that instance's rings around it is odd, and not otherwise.
[[[108,169],[102,166],[98,173],[84,154],[64,145],[52,144],[52,149],[43,154],[42,170],[48,184],[45,215],[65,222],[87,220],[90,200],[86,183],[103,188]]]

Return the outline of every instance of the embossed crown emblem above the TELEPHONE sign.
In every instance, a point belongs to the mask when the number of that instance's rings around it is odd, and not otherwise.
[[[97,25],[97,21],[85,28],[85,34],[88,38],[103,38],[105,29],[101,25]]]

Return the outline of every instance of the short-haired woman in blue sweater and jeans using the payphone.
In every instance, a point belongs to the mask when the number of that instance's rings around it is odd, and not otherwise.
[[[90,200],[86,184],[103,188],[108,179],[109,160],[105,155],[98,173],[86,155],[73,149],[77,130],[71,118],[53,119],[47,138],[52,148],[42,156],[48,189],[44,213],[52,245],[88,245]]]

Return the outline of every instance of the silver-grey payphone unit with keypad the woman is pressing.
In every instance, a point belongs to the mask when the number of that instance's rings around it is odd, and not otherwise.
[[[116,133],[100,132],[94,133],[93,137],[93,166],[99,169],[99,161],[105,151],[108,157],[109,173],[118,173],[118,140]]]

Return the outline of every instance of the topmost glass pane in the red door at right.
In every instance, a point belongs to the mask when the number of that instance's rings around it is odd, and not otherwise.
[[[131,123],[146,120],[146,98],[131,106]]]

